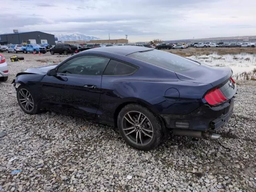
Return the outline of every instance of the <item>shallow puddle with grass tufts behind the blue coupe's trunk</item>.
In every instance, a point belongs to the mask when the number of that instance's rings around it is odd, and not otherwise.
[[[233,76],[239,76],[243,72],[251,72],[256,68],[256,54],[210,54],[187,58],[210,66],[229,66],[233,70]]]

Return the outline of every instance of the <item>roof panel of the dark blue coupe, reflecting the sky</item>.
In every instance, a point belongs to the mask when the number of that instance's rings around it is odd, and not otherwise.
[[[135,52],[141,52],[141,51],[147,51],[147,50],[153,50],[153,49],[148,47],[141,47],[141,46],[124,45],[124,46],[99,47],[99,48],[86,50],[84,52],[88,53],[88,52],[97,51],[97,52],[113,53],[113,54],[126,56]]]

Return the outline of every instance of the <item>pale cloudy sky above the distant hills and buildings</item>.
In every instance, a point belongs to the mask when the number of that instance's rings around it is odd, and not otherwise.
[[[100,39],[256,35],[256,0],[0,0],[0,34],[42,31]]]

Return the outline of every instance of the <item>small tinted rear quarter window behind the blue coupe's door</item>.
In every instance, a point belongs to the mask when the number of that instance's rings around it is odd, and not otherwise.
[[[136,72],[137,69],[135,66],[120,61],[110,60],[103,75],[130,75]]]

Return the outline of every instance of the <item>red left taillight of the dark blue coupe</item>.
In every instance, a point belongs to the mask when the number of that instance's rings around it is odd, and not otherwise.
[[[219,105],[219,104],[223,103],[224,101],[228,100],[219,88],[210,90],[204,96],[204,98],[210,105]]]

